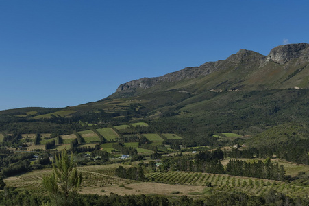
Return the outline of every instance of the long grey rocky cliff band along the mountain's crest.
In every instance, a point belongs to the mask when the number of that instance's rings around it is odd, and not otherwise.
[[[201,76],[208,76],[214,71],[222,71],[231,67],[238,66],[252,68],[264,67],[267,63],[275,62],[279,65],[298,59],[300,62],[309,62],[309,44],[299,43],[282,45],[271,49],[269,55],[264,56],[258,52],[240,49],[236,54],[232,54],[226,60],[217,62],[206,62],[199,67],[186,67],[180,71],[167,73],[164,76],[155,78],[141,78],[121,84],[116,93],[135,93],[136,89],[148,89],[163,82],[177,82],[180,80],[193,79]]]

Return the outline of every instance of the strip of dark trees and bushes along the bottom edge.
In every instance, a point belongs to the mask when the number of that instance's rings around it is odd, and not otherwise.
[[[17,190],[12,187],[4,187],[0,191],[1,205],[42,205],[42,203],[51,202],[48,196],[38,196],[29,193],[27,190]],[[288,205],[288,206],[305,206],[309,205],[306,198],[289,197],[276,190],[269,190],[263,196],[250,196],[242,192],[216,192],[202,198],[190,198],[188,196],[180,196],[166,198],[165,196],[149,195],[124,195],[118,194],[98,195],[98,194],[78,194],[75,196],[73,204],[75,206],[84,205],[136,205],[136,206],[222,206],[222,205]]]

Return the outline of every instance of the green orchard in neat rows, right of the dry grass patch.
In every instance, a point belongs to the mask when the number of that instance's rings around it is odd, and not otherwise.
[[[199,172],[153,172],[145,174],[148,179],[157,183],[177,185],[201,185],[211,183],[212,187],[203,193],[212,191],[237,191],[251,195],[260,195],[270,189],[288,194],[289,196],[307,196],[309,187],[291,185],[280,181],[247,178],[242,176],[228,176],[224,174],[208,174]]]

